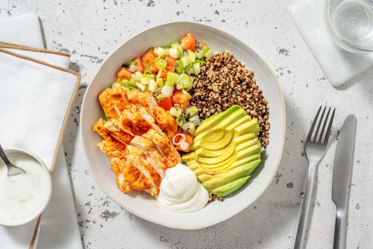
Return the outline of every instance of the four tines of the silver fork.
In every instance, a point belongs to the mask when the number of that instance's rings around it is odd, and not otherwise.
[[[319,110],[316,113],[316,117],[312,122],[311,129],[308,132],[307,140],[317,142],[317,143],[320,142],[320,143],[326,143],[327,144],[327,142],[329,140],[328,134],[330,134],[330,130],[332,129],[335,108],[333,109],[333,113],[332,113],[332,116],[330,117],[329,122],[328,122],[328,119],[329,119],[329,114],[330,114],[331,107],[329,107],[329,110],[327,111],[325,119],[324,119],[324,114],[325,114],[325,111],[326,111],[326,107],[324,107],[323,113],[321,114],[321,117],[319,118],[321,108],[322,108],[322,106],[320,106]],[[317,128],[316,128],[316,131],[315,131],[315,126],[316,126],[317,120],[319,120],[319,123],[317,124]],[[322,123],[323,123],[323,126],[322,126],[322,129],[321,129],[321,132],[319,133],[319,130],[320,130],[320,127],[321,127]],[[327,126],[326,132],[324,133],[327,123],[329,123],[329,125]]]

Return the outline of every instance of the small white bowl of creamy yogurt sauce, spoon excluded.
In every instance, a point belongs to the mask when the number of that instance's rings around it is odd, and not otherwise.
[[[5,149],[9,161],[26,171],[7,176],[0,160],[0,225],[17,226],[38,217],[47,207],[52,181],[48,168],[34,154],[23,149]]]

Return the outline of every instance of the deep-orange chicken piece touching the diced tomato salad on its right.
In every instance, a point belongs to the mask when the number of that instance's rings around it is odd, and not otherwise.
[[[154,107],[154,121],[171,140],[179,133],[175,119],[159,105]]]

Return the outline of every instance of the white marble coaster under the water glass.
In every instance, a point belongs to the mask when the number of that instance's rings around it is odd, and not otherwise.
[[[373,54],[353,54],[338,47],[326,31],[324,7],[325,0],[300,0],[288,11],[329,82],[339,86],[372,67]]]

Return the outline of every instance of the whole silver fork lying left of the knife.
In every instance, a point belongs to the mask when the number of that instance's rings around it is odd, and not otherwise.
[[[308,211],[310,210],[310,203],[311,203],[311,196],[312,196],[312,189],[313,189],[313,182],[315,178],[315,171],[316,166],[319,164],[321,158],[325,154],[327,142],[329,140],[330,130],[332,129],[332,123],[335,113],[335,108],[333,110],[332,116],[330,117],[329,125],[327,126],[326,132],[325,127],[328,121],[328,117],[330,114],[330,109],[327,111],[325,122],[323,122],[323,117],[325,114],[326,107],[323,110],[323,113],[321,115],[320,121],[317,124],[317,128],[315,131],[315,126],[317,119],[319,117],[321,106],[319,110],[316,113],[316,117],[312,122],[310,131],[308,132],[307,139],[304,144],[304,150],[305,155],[308,159],[308,179],[307,184],[305,186],[304,190],[304,199],[303,199],[303,205],[301,210],[301,217],[299,219],[298,224],[298,231],[297,231],[297,237],[295,238],[295,246],[294,249],[302,249],[303,248],[303,242],[304,242],[304,234],[305,234],[305,227],[307,226],[307,218],[308,218]],[[321,132],[319,133],[321,124],[323,124]],[[323,139],[323,136],[325,135],[325,138]]]

